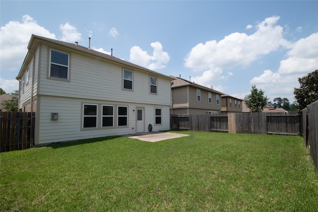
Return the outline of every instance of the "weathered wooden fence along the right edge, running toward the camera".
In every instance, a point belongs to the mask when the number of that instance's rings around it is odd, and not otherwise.
[[[304,142],[310,146],[310,155],[318,174],[318,100],[303,110],[303,122]]]

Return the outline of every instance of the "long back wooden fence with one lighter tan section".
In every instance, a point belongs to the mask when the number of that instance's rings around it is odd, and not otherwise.
[[[302,113],[171,114],[171,130],[302,135]]]

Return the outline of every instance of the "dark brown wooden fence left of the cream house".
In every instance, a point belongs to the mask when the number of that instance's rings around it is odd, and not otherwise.
[[[0,125],[0,152],[26,149],[33,145],[34,112],[1,112]]]

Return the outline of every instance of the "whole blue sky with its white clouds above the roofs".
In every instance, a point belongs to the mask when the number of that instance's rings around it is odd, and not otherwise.
[[[0,86],[15,80],[31,34],[181,75],[238,98],[252,85],[294,101],[318,69],[318,1],[0,1]],[[190,78],[191,76],[191,78]]]

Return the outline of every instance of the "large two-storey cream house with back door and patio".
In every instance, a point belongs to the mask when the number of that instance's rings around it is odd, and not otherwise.
[[[17,76],[36,112],[35,144],[170,129],[171,77],[90,48],[32,35]]]

